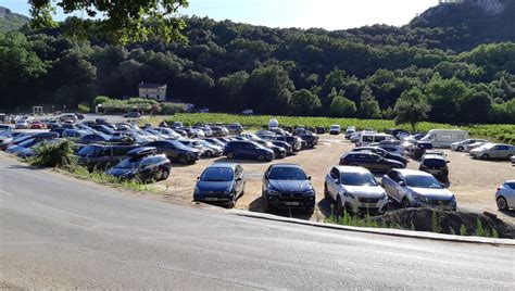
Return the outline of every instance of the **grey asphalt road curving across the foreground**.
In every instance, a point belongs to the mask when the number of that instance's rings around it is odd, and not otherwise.
[[[515,290],[515,249],[162,203],[0,155],[0,288]]]

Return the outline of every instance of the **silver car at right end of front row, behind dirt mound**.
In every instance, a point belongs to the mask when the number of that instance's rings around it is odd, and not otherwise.
[[[391,169],[382,176],[391,201],[403,207],[438,207],[455,211],[456,199],[431,174],[414,169]]]

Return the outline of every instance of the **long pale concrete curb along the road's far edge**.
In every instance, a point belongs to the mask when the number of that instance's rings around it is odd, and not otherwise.
[[[515,246],[515,240],[511,240],[511,239],[462,237],[462,236],[434,233],[434,232],[427,232],[427,231],[412,231],[412,230],[393,229],[393,228],[369,228],[369,227],[342,226],[342,225],[325,224],[325,223],[317,223],[317,222],[311,222],[311,220],[302,220],[298,218],[280,217],[280,216],[275,216],[271,214],[254,213],[254,212],[240,211],[240,210],[229,210],[227,212],[237,216],[242,216],[242,217],[259,218],[259,219],[265,219],[265,220],[272,220],[272,222],[297,224],[297,225],[304,225],[304,226],[312,226],[312,227],[335,229],[335,230],[346,230],[346,231],[355,231],[355,232],[414,238],[414,239],[438,240],[438,241],[447,241],[447,242],[479,243],[479,244],[490,244],[490,245],[499,245],[499,246]]]

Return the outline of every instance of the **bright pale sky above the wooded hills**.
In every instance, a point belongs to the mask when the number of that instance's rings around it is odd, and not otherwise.
[[[407,24],[438,0],[189,0],[185,15],[269,27],[321,27],[328,30],[364,25]],[[1,0],[0,5],[28,15],[27,0]],[[79,15],[79,14],[78,14]],[[55,20],[66,17],[58,12]]]

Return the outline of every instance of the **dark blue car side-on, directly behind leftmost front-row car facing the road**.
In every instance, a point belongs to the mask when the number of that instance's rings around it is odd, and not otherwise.
[[[230,141],[225,146],[224,155],[227,159],[255,159],[259,161],[274,160],[274,151],[254,141]]]

